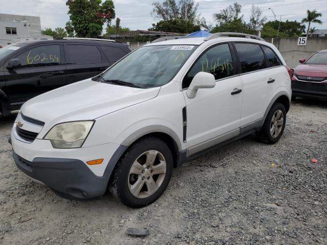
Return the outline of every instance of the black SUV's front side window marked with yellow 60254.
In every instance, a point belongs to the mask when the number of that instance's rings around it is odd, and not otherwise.
[[[60,45],[34,47],[15,58],[20,60],[22,68],[60,65]]]

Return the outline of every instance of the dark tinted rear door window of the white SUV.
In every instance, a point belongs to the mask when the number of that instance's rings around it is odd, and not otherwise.
[[[267,68],[264,53],[258,44],[235,43],[242,73]]]

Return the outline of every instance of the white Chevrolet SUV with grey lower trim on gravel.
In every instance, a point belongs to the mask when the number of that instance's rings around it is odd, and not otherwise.
[[[278,141],[291,75],[276,47],[251,35],[154,42],[25,103],[9,142],[17,167],[65,198],[108,188],[142,207],[201,153],[252,133]]]

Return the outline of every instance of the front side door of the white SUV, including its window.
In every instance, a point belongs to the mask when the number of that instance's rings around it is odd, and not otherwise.
[[[183,79],[186,101],[187,155],[193,155],[240,133],[242,81],[228,43],[216,44],[204,51]],[[186,94],[194,76],[200,72],[215,76],[216,86],[199,89],[190,99]]]

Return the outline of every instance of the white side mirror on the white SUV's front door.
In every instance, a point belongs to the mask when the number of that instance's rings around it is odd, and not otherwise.
[[[216,79],[214,75],[200,71],[194,76],[189,89],[186,94],[190,99],[194,98],[199,88],[213,88],[216,86]]]

